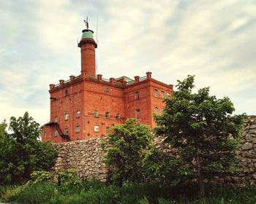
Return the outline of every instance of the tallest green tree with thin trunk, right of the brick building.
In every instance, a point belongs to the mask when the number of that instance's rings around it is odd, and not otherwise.
[[[235,161],[244,115],[235,110],[229,98],[209,95],[209,87],[192,93],[194,76],[178,80],[172,98],[165,98],[162,116],[156,116],[156,133],[178,150],[187,165],[188,174],[195,173],[201,197],[206,197],[203,178],[227,173]]]

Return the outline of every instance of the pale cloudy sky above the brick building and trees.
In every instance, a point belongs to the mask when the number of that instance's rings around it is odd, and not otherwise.
[[[256,0],[10,0],[0,1],[0,122],[25,111],[49,121],[49,85],[80,74],[86,16],[103,78],[151,71],[175,86],[191,74],[236,114],[256,114]]]

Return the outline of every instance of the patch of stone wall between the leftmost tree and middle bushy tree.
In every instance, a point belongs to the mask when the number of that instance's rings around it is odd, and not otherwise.
[[[53,168],[55,172],[74,168],[80,178],[97,178],[105,181],[108,170],[102,162],[105,151],[100,148],[100,138],[56,144],[59,155]]]

